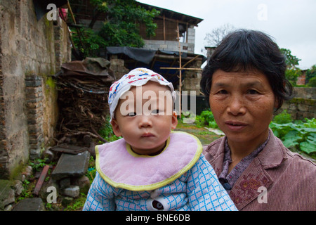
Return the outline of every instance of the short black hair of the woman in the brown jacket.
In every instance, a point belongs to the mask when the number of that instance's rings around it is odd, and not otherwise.
[[[285,78],[285,56],[277,44],[263,32],[237,30],[216,47],[202,72],[201,88],[209,102],[213,73],[258,70],[268,78],[277,100],[277,109],[291,98],[293,88]]]

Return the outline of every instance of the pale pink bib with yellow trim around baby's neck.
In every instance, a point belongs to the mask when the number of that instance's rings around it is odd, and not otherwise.
[[[187,172],[202,153],[197,137],[172,131],[159,155],[138,155],[124,139],[96,146],[96,169],[108,184],[131,191],[165,186]]]

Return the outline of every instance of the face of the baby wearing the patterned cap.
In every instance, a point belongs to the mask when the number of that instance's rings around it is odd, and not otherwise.
[[[111,123],[114,134],[123,136],[134,152],[159,152],[178,124],[170,89],[157,82],[133,86],[119,100]]]

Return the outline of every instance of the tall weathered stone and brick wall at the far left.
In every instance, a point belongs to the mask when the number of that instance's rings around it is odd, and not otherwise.
[[[32,0],[0,1],[0,20],[0,179],[8,179],[53,138],[58,110],[50,75],[71,55],[67,35],[55,40],[67,26],[46,16],[37,21]]]

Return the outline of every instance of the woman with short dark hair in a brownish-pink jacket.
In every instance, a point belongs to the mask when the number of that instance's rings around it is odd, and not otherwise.
[[[263,32],[228,34],[202,72],[221,139],[204,155],[238,210],[316,210],[316,165],[291,153],[268,127],[291,98],[285,58]]]

